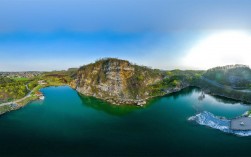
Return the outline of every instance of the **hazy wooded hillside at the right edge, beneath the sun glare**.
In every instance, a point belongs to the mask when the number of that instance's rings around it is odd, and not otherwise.
[[[251,70],[245,65],[209,69],[196,86],[212,95],[251,103]]]

